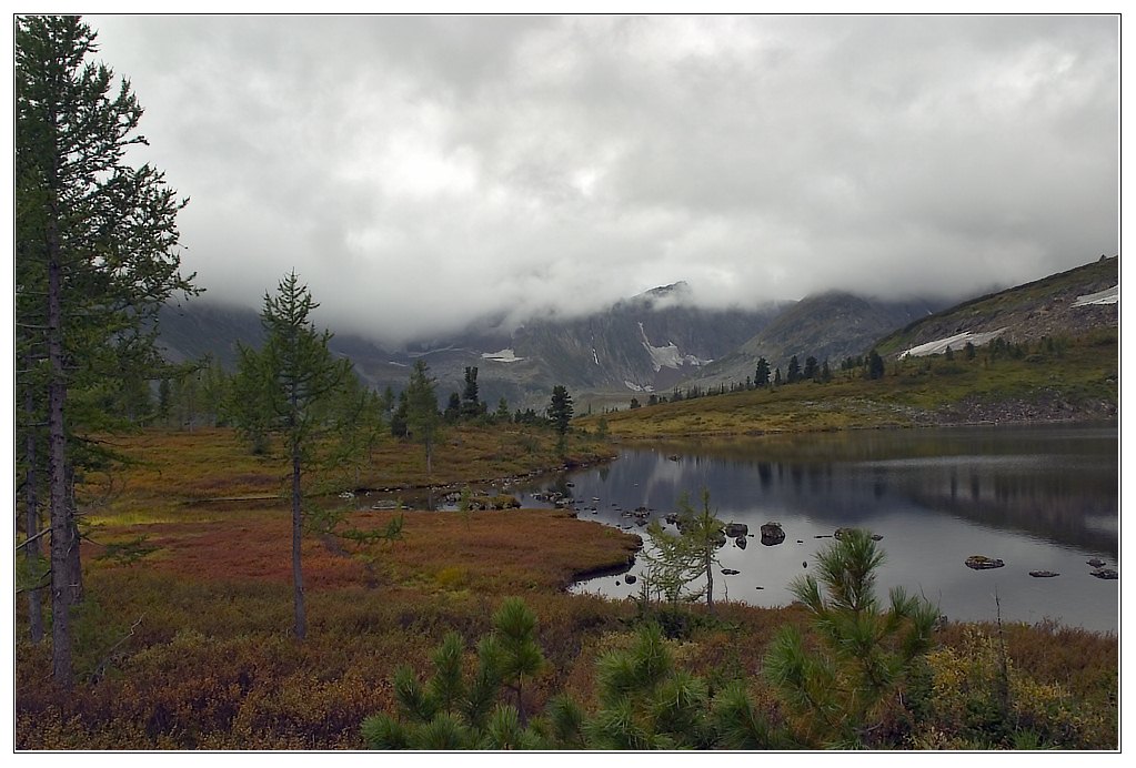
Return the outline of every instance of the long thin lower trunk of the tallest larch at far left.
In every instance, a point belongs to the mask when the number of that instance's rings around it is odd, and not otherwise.
[[[51,670],[56,683],[72,685],[70,637],[70,508],[67,504],[67,433],[64,425],[62,265],[59,234],[48,227],[48,503],[51,516]]]

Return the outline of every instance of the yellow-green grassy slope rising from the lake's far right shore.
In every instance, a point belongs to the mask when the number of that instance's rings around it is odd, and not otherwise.
[[[891,360],[885,376],[841,372],[833,382],[620,410],[579,419],[619,439],[742,435],[868,427],[912,427],[1114,418],[1119,402],[1116,329],[1078,340],[979,348]]]

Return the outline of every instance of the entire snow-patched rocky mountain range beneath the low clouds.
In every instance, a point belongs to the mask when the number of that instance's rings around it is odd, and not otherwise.
[[[815,357],[835,367],[874,347],[896,353],[901,344],[928,343],[962,332],[1011,327],[1006,332],[1011,340],[1077,334],[1102,317],[1116,318],[1118,261],[1103,260],[950,304],[828,291],[800,301],[713,309],[700,306],[692,287],[678,282],[601,311],[535,318],[511,329],[500,318],[490,318],[460,333],[400,347],[384,345],[366,334],[337,332],[329,347],[349,358],[359,376],[376,389],[401,391],[410,367],[421,359],[437,382],[443,403],[451,392],[460,392],[465,369],[476,367],[481,398],[491,409],[501,398],[511,409],[543,408],[557,384],[567,386],[586,408],[593,399],[603,403],[626,402],[632,396],[642,400],[653,392],[669,394],[678,385],[744,383],[762,357],[785,373],[793,356],[801,365]],[[1101,291],[1113,293],[1101,299],[1096,297]],[[256,311],[207,300],[166,307],[160,333],[169,360],[211,354],[229,370],[236,364],[237,343],[259,347],[262,342]]]

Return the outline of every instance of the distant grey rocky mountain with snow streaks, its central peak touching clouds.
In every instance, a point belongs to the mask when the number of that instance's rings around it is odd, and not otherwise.
[[[350,358],[370,385],[406,386],[409,368],[424,359],[437,379],[440,399],[460,391],[465,368],[478,368],[482,399],[492,408],[543,407],[552,386],[573,392],[630,393],[666,390],[728,353],[776,317],[784,303],[755,309],[704,309],[684,283],[653,289],[580,318],[543,318],[511,334],[470,329],[452,339],[383,349],[358,335],[336,334],[331,348]],[[259,318],[251,309],[198,300],[167,307],[161,342],[174,361],[212,354],[226,368],[236,343],[259,345]]]

